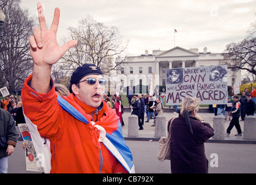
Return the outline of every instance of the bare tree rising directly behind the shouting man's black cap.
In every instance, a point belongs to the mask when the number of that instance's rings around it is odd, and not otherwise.
[[[100,66],[108,74],[120,65],[114,60],[125,51],[127,43],[123,45],[115,27],[97,23],[88,16],[79,21],[78,28],[70,28],[70,32],[78,45],[68,50],[62,58],[63,69],[74,71],[78,66],[89,63]]]

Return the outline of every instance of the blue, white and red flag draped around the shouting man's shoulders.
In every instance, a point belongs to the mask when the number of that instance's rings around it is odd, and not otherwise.
[[[82,121],[86,124],[92,124],[100,131],[100,137],[98,139],[99,142],[102,142],[107,149],[116,157],[116,159],[123,165],[123,167],[129,173],[134,173],[134,164],[133,157],[129,147],[127,147],[125,143],[125,139],[122,134],[122,126],[120,124],[120,120],[118,123],[117,129],[115,131],[109,131],[107,128],[104,128],[104,125],[95,125],[93,121],[88,121],[83,114],[81,114],[78,110],[74,108],[68,101],[60,96],[57,97],[57,101],[60,104],[61,108],[63,108],[66,112],[70,113],[75,119]]]

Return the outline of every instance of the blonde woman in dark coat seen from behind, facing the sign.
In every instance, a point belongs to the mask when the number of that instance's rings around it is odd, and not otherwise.
[[[198,109],[198,98],[186,97],[179,117],[171,123],[171,173],[208,173],[204,142],[214,133],[196,114]]]

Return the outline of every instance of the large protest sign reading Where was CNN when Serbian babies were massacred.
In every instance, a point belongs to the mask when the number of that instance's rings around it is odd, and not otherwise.
[[[202,105],[228,103],[227,66],[173,68],[166,72],[166,105],[197,97]]]

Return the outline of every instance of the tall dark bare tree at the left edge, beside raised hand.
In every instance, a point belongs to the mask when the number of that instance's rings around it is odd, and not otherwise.
[[[0,40],[0,86],[7,86],[10,93],[21,90],[25,77],[32,71],[28,37],[35,21],[19,3],[19,0],[5,0],[0,5],[6,16]]]

